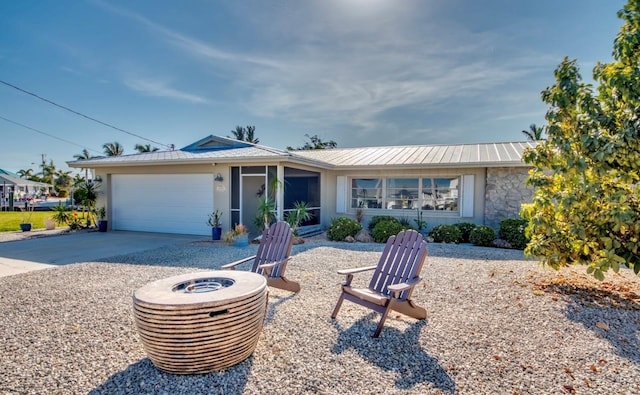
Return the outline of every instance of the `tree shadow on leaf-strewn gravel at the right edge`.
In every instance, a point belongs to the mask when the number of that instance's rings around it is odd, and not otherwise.
[[[616,354],[640,363],[640,295],[607,282],[597,286],[556,280],[537,284],[568,302],[565,314],[606,339]],[[606,362],[606,361],[605,361]]]

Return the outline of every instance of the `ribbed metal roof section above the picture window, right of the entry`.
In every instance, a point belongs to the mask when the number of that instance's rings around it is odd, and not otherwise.
[[[454,145],[337,148],[295,151],[294,155],[336,168],[414,166],[526,166],[522,153],[534,141]]]

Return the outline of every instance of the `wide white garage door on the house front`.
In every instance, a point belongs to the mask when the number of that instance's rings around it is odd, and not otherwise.
[[[207,235],[213,211],[211,174],[114,174],[114,230]]]

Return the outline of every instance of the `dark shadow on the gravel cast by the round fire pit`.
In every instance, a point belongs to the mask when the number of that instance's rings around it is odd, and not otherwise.
[[[165,373],[149,358],[129,365],[126,370],[109,377],[89,395],[112,394],[225,394],[244,392],[253,365],[253,357],[222,372],[179,375]]]

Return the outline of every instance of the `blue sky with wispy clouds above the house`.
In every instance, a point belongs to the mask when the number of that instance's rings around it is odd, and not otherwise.
[[[238,125],[281,149],[522,141],[563,57],[587,82],[611,61],[624,4],[1,1],[0,169]]]

